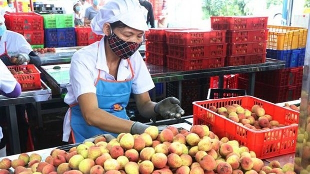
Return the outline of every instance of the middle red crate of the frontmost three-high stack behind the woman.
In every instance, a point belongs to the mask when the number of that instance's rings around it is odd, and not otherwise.
[[[174,45],[167,44],[168,55],[182,59],[197,59],[226,56],[227,43],[207,45]]]

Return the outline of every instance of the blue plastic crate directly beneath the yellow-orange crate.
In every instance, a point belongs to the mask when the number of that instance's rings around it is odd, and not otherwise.
[[[303,66],[305,48],[289,50],[266,49],[266,57],[285,61],[285,68]]]

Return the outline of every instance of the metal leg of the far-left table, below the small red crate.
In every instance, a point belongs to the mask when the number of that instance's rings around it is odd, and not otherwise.
[[[17,126],[17,116],[15,105],[8,105],[6,108],[6,118],[8,121],[8,134],[10,146],[12,147],[13,154],[20,154],[19,134]]]

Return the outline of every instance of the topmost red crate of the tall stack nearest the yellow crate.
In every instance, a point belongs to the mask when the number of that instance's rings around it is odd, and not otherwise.
[[[266,16],[210,16],[211,28],[222,30],[265,29]]]

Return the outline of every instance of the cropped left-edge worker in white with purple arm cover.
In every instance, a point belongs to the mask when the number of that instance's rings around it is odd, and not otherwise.
[[[21,93],[20,84],[17,83],[11,72],[7,69],[4,63],[0,60],[0,95],[5,97],[14,98],[18,97]],[[6,138],[2,133],[0,127],[0,157],[6,157]]]

